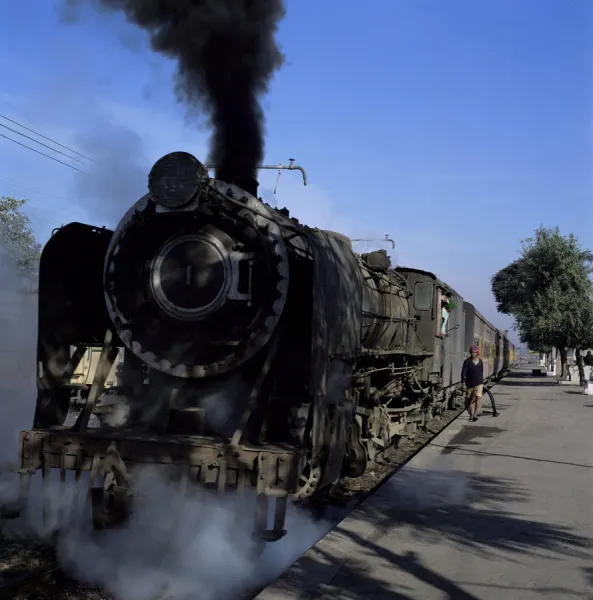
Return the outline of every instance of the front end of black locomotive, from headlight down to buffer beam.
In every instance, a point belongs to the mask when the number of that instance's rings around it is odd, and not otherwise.
[[[148,188],[115,231],[71,223],[43,250],[37,408],[33,429],[21,432],[20,499],[3,514],[25,508],[36,471],[44,484],[52,469],[62,482],[67,471],[77,482],[88,471],[95,527],[120,525],[134,496],[130,475],[148,463],[219,492],[255,488],[255,533],[274,541],[306,450],[261,445],[248,425],[279,346],[287,244],[257,182],[210,178],[190,154],[161,158]],[[91,350],[100,353],[93,376],[73,383]],[[68,425],[73,389],[83,407]],[[208,422],[209,398],[214,413],[227,400],[230,429]]]

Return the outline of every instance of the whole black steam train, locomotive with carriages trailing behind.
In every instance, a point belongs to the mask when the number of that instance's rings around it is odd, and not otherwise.
[[[445,282],[393,268],[384,250],[356,254],[262,202],[257,185],[174,152],[115,231],[54,232],[13,512],[36,471],[87,471],[95,527],[116,526],[131,472],[169,465],[219,492],[255,488],[255,534],[275,541],[291,499],[361,476],[455,402],[470,344],[488,379],[512,367],[506,334]]]

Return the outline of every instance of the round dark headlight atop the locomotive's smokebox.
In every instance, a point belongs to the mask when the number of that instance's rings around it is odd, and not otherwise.
[[[207,179],[206,167],[187,152],[165,154],[148,175],[148,190],[154,201],[166,208],[179,208],[200,192]]]

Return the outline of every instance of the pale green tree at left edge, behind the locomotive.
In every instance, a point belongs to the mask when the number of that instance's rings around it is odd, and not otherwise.
[[[0,197],[0,245],[18,268],[36,271],[41,246],[29,227],[30,219],[21,212],[27,200]]]

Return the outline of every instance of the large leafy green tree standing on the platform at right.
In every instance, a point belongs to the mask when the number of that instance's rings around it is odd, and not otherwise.
[[[540,227],[521,257],[492,277],[498,310],[515,318],[530,348],[558,348],[562,375],[568,349],[580,353],[593,342],[592,263],[574,235]]]

